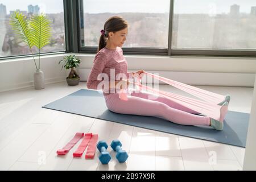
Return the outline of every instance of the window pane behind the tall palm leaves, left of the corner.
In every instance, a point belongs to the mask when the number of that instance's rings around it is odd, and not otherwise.
[[[9,24],[10,14],[19,10],[26,16],[45,13],[51,20],[52,39],[48,46],[42,48],[42,53],[65,51],[65,28],[63,0],[42,1],[9,1],[1,0],[0,3],[0,57],[29,55],[30,50],[20,40],[16,39]],[[34,53],[38,53],[36,47]]]

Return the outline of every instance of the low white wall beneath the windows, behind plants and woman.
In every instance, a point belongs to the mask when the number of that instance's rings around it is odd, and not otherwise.
[[[45,82],[65,81],[69,71],[58,64],[65,55],[41,56],[40,68]],[[75,54],[81,58],[81,77],[87,77],[95,54]],[[160,76],[191,85],[254,86],[255,58],[236,57],[169,57],[125,55],[129,71],[144,69]],[[36,62],[38,63],[38,62]],[[82,68],[87,70],[82,72]],[[0,60],[0,92],[33,86],[35,64],[30,58]]]

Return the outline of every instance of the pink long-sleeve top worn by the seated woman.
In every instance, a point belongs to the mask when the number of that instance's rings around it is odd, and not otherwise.
[[[98,80],[98,75],[100,73],[106,73],[108,75],[108,81],[110,81],[110,69],[112,69],[112,75],[114,75],[114,79],[111,78],[111,81],[117,81],[117,80],[122,80],[128,79],[129,73],[127,73],[127,61],[125,57],[123,56],[123,50],[121,47],[117,47],[116,49],[108,49],[106,47],[100,49],[99,52],[97,52],[94,61],[93,61],[93,67],[92,70],[89,73],[88,79],[86,86],[88,89],[103,89],[104,87],[102,86],[104,83],[104,78],[103,76],[100,76],[100,79]],[[123,74],[119,74],[123,73]],[[117,75],[119,74],[119,77]],[[122,76],[123,75],[123,76]],[[125,77],[124,77],[125,76]],[[98,88],[98,84],[102,81],[101,86]],[[115,90],[115,93],[119,89],[111,89]],[[112,92],[111,92],[112,93]],[[108,96],[110,94],[107,92],[103,92],[104,96]]]

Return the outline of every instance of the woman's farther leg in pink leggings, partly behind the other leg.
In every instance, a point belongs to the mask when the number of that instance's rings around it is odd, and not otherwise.
[[[162,96],[158,96],[156,94],[150,93],[150,92],[146,92],[146,91],[139,91],[139,90],[132,90],[131,91],[131,96],[135,96],[135,97],[141,97],[147,100],[153,100],[153,101],[158,101],[158,102],[162,102],[164,104],[167,104],[170,107],[173,107],[175,109],[178,110],[183,110],[187,113],[191,113],[191,114],[200,114],[199,112],[189,109],[188,107],[185,107],[183,105],[178,104],[177,102],[168,99],[166,97],[162,97]]]

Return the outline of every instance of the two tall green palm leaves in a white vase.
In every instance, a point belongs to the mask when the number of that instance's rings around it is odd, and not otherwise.
[[[51,39],[50,20],[44,14],[32,15],[28,20],[22,13],[15,11],[11,14],[10,25],[17,38],[26,43],[34,59],[36,66],[36,71],[34,72],[35,89],[43,89],[44,73],[40,70],[40,51],[44,46],[49,44]],[[35,56],[32,52],[34,46],[39,50],[38,66],[36,65]]]

